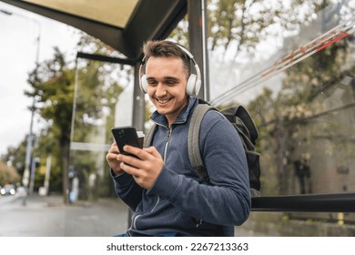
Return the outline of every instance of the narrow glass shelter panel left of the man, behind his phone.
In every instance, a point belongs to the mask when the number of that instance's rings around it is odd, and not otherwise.
[[[95,199],[112,193],[106,152],[113,142],[111,128],[131,123],[132,77],[115,64],[79,59],[77,66],[69,176],[79,175],[79,197]],[[128,88],[124,93],[123,87]]]

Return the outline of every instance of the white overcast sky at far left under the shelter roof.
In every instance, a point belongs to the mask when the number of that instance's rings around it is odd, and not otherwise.
[[[54,55],[54,46],[66,54],[76,56],[76,29],[63,23],[26,12],[21,8],[0,2],[0,155],[8,147],[17,147],[29,133],[32,99],[26,97],[30,90],[26,80],[35,67],[40,35],[38,61],[41,63]],[[34,118],[34,132],[39,129]]]

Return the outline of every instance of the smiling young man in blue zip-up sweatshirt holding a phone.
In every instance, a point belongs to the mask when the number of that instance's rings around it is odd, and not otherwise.
[[[188,159],[188,126],[198,105],[187,88],[192,55],[169,41],[149,41],[143,52],[142,90],[157,109],[152,146],[126,146],[134,158],[114,143],[106,155],[117,196],[135,211],[125,235],[233,236],[233,226],[250,211],[248,166],[236,129],[216,111],[205,115],[199,141],[209,181],[199,179]]]

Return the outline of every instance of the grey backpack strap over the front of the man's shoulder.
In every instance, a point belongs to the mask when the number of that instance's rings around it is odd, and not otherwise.
[[[188,128],[188,157],[192,168],[200,179],[208,179],[208,173],[204,167],[203,160],[199,151],[199,129],[201,127],[202,118],[209,109],[216,109],[207,104],[198,104],[192,113],[190,126]]]

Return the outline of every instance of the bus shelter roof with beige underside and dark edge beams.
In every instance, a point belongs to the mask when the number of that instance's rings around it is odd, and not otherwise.
[[[0,1],[74,26],[134,61],[143,42],[166,38],[187,14],[187,0]]]

